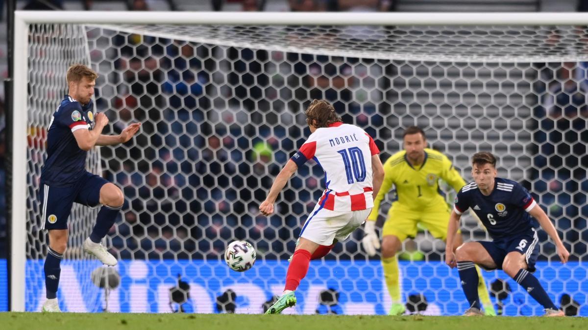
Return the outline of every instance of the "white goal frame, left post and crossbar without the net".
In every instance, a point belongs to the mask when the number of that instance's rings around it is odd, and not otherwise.
[[[25,311],[28,24],[199,25],[588,25],[588,13],[335,13],[16,11],[12,135],[11,311]],[[64,82],[65,83],[65,82]]]

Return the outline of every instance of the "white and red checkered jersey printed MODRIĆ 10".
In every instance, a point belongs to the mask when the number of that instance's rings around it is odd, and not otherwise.
[[[380,153],[371,136],[358,126],[334,123],[310,134],[291,160],[299,167],[314,159],[325,171],[322,207],[359,211],[373,207],[372,156]]]

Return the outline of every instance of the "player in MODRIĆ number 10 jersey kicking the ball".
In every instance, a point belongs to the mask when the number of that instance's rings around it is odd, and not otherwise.
[[[324,257],[368,218],[384,179],[380,151],[368,133],[344,124],[325,100],[313,100],[305,114],[312,134],[280,171],[259,210],[272,214],[282,188],[311,158],[325,171],[326,189],[300,231],[282,297],[266,314],[279,314],[296,304],[294,291],[306,276],[310,260]]]

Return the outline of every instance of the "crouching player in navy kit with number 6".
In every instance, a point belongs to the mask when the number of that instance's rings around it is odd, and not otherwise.
[[[545,308],[546,316],[564,316],[531,274],[539,255],[539,239],[531,217],[539,221],[552,238],[560,260],[567,262],[570,256],[547,214],[519,183],[496,177],[496,157],[491,153],[473,156],[472,177],[475,181],[463,186],[455,198],[447,228],[445,255],[447,265],[451,268],[457,266],[459,270],[463,292],[470,304],[465,315],[484,315],[477,295],[477,264],[487,270],[502,269],[509,274]],[[451,248],[453,237],[462,213],[468,208],[482,220],[492,241],[464,243],[454,254]]]

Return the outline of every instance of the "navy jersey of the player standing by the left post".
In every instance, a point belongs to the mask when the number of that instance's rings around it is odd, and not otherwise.
[[[47,132],[47,160],[41,170],[41,182],[47,186],[67,187],[86,172],[87,152],[79,149],[74,132],[92,129],[93,104],[87,105],[66,95],[55,110]]]

